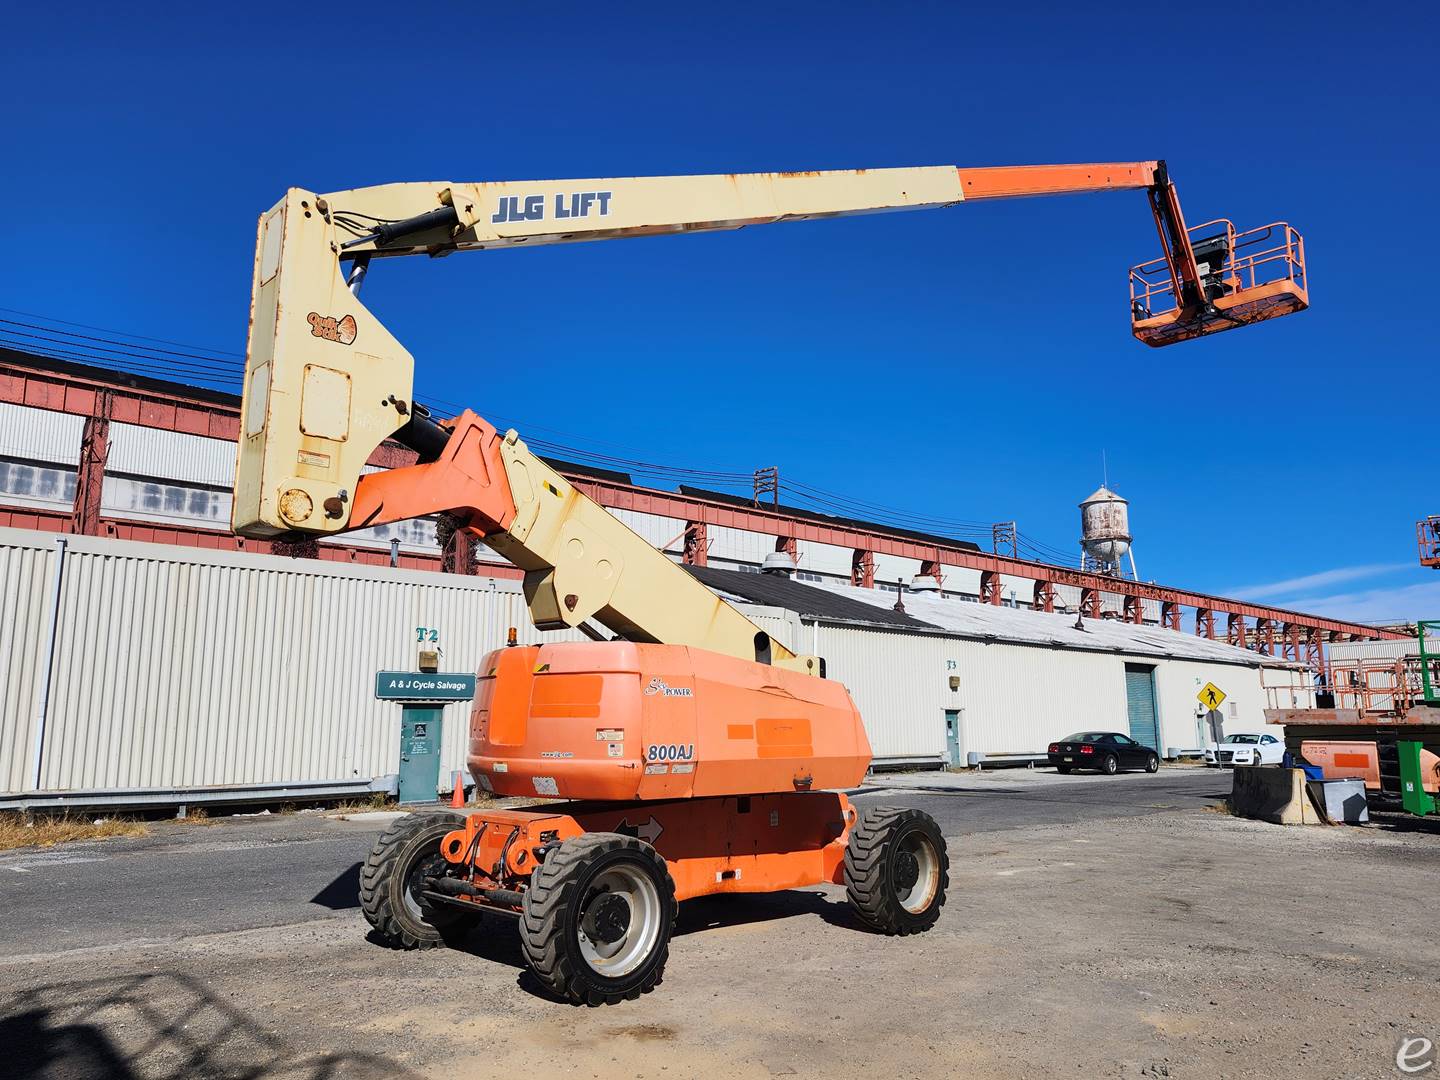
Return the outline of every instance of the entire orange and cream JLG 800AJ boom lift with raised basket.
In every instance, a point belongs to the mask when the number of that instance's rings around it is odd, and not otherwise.
[[[1149,193],[1162,248],[1132,271],[1142,341],[1306,307],[1289,226],[1187,229],[1159,161],[291,189],[264,215],[235,530],[458,516],[524,572],[536,626],[590,638],[480,665],[471,775],[557,802],[403,818],[361,874],[372,924],[418,948],[482,912],[514,916],[543,984],[613,1004],[660,982],[680,900],[834,881],[863,920],[904,935],[935,923],[949,883],[935,821],[838,793],[870,743],[824,661],[772,639],[514,431],[415,402],[410,354],[359,300],[374,261],[1122,189]],[[418,464],[364,474],[390,438]]]

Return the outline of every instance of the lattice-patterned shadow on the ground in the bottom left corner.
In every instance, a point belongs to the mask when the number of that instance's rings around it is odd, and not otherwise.
[[[291,1047],[186,975],[33,986],[3,1009],[7,1080],[419,1080],[383,1057]]]

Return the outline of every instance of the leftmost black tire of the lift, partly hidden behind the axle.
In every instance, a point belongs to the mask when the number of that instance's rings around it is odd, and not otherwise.
[[[370,848],[360,867],[360,910],[387,945],[433,949],[475,922],[454,907],[431,906],[412,897],[419,909],[416,913],[405,901],[405,891],[415,884],[410,878],[418,867],[429,861],[435,870],[444,870],[441,840],[464,822],[464,814],[406,814],[392,822]]]

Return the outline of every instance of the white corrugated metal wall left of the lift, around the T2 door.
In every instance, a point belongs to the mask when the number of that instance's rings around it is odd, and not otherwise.
[[[6,583],[0,780],[30,789],[53,539],[0,530]],[[13,618],[12,618],[13,613]],[[416,626],[442,668],[474,671],[530,626],[518,582],[71,537],[40,791],[356,780],[397,770],[397,706],[374,672],[413,668]],[[445,714],[442,782],[464,765]]]

